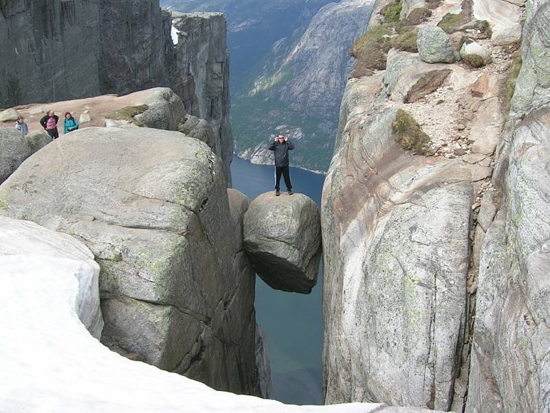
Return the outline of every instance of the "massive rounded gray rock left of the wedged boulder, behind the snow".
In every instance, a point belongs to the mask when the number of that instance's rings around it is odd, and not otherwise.
[[[87,244],[101,266],[102,341],[111,349],[257,394],[242,198],[229,201],[223,165],[199,140],[89,127],[12,174],[0,186],[0,213]]]

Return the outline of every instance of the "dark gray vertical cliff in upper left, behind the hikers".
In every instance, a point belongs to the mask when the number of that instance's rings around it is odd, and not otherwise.
[[[170,87],[207,120],[230,182],[232,133],[225,19],[179,15],[158,0],[8,1],[0,6],[0,107]]]

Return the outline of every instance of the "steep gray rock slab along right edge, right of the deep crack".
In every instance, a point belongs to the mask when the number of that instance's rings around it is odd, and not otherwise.
[[[483,198],[494,220],[481,246],[468,412],[550,410],[549,18],[548,1],[527,2],[524,64],[497,151],[499,196]]]

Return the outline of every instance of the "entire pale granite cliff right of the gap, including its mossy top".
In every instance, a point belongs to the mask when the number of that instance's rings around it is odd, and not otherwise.
[[[518,52],[495,5],[375,4],[322,195],[327,403],[550,408],[550,8]]]

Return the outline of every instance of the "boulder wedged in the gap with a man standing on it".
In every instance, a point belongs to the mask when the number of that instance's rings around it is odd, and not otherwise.
[[[317,283],[320,216],[306,195],[259,195],[245,213],[244,244],[254,271],[270,287],[308,294]]]

